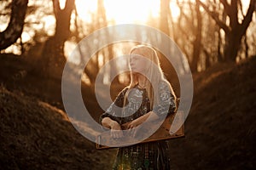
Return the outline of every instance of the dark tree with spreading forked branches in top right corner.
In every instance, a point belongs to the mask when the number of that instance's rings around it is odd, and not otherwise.
[[[210,4],[205,4],[199,1],[201,6],[212,16],[212,19],[216,21],[219,27],[225,32],[225,46],[224,46],[224,59],[236,61],[236,55],[240,48],[241,38],[246,35],[248,26],[250,25],[253,12],[255,11],[255,0],[250,0],[247,14],[244,15],[243,19],[239,20],[239,14],[241,11],[240,0],[220,0],[220,3],[224,6],[224,13],[227,15],[229,21],[221,19],[217,11],[212,11]],[[208,6],[207,6],[208,5]],[[214,6],[215,4],[212,4]]]

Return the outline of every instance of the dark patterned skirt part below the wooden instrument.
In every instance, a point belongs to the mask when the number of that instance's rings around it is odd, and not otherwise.
[[[113,170],[169,170],[169,145],[167,141],[135,144],[119,148]]]

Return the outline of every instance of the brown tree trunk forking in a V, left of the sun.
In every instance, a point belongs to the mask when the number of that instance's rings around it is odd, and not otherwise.
[[[74,9],[75,0],[66,0],[65,7],[61,9],[59,0],[53,0],[55,14],[55,35],[49,37],[44,44],[42,54],[43,71],[50,72],[51,75],[60,76],[65,65],[64,43],[70,36],[70,20]],[[54,72],[57,71],[57,72]],[[60,73],[60,74],[59,74]]]

